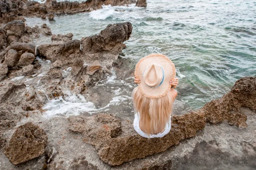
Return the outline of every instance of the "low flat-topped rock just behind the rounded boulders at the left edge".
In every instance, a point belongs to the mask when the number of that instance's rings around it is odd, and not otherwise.
[[[4,59],[4,56],[8,53],[10,49],[17,51],[19,55],[23,54],[24,52],[35,54],[34,44],[24,42],[12,42],[3,52],[0,53],[0,61]]]

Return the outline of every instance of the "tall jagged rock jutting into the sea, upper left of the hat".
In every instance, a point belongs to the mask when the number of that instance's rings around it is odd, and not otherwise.
[[[112,65],[123,49],[123,42],[129,40],[132,25],[130,22],[109,24],[99,35],[81,40],[81,51],[87,62],[106,62]]]

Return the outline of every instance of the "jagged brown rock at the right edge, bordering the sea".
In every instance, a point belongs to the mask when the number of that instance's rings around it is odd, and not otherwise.
[[[237,80],[230,92],[221,99],[215,99],[204,105],[207,121],[220,123],[227,121],[230,125],[247,127],[247,116],[239,111],[241,106],[256,109],[256,78],[242,77]]]

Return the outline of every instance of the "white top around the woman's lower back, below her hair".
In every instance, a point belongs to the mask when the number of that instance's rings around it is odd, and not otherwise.
[[[136,132],[139,133],[139,135],[143,136],[144,138],[161,138],[165,136],[167,133],[169,133],[169,131],[171,130],[171,116],[169,121],[166,123],[164,130],[162,130],[162,132],[157,134],[150,134],[150,136],[148,136],[146,133],[144,133],[140,129],[139,122],[140,122],[140,113],[138,112],[134,116],[134,130],[136,130]]]

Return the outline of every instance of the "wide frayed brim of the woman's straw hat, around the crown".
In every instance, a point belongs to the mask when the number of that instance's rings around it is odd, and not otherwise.
[[[157,88],[148,87],[143,80],[143,72],[145,68],[152,63],[161,65],[165,73],[163,83]],[[172,87],[172,85],[169,84],[169,81],[175,78],[176,69],[173,62],[165,55],[150,54],[140,59],[135,67],[134,74],[138,77],[138,79],[140,79],[139,88],[142,95],[150,99],[157,99],[165,96],[167,91]]]

